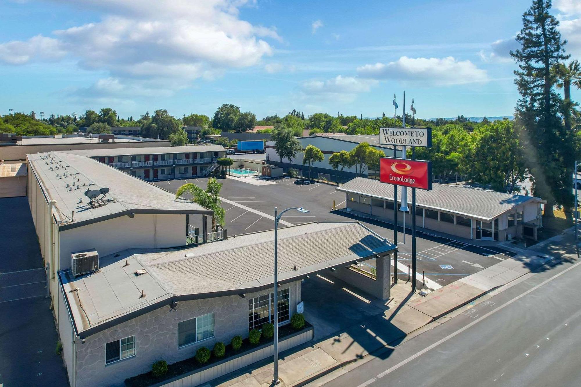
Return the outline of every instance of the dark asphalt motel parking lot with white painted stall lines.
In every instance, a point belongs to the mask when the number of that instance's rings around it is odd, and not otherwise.
[[[247,178],[227,178],[220,193],[226,210],[225,228],[228,235],[247,234],[274,228],[274,207],[279,210],[288,207],[304,207],[310,213],[302,214],[289,211],[282,216],[279,227],[311,221],[353,221],[357,220],[371,230],[393,241],[393,226],[388,223],[358,217],[347,213],[345,193],[335,191],[335,186],[314,183],[302,184],[295,178],[279,178],[271,184],[256,185],[246,182]],[[175,192],[185,182],[192,182],[206,188],[206,178],[160,181],[155,184],[167,191]],[[333,200],[335,210],[333,210]],[[283,223],[284,222],[284,223]],[[399,228],[398,276],[408,279],[408,264],[411,264],[411,230],[407,230],[406,243],[403,243],[402,227]],[[324,241],[321,241],[324,243]],[[426,286],[437,289],[485,267],[514,256],[515,253],[500,247],[480,247],[454,239],[443,238],[424,232],[417,232],[417,273],[422,281],[425,272]],[[367,261],[374,266],[373,260]],[[364,267],[365,269],[365,267]],[[370,269],[370,268],[369,268]]]

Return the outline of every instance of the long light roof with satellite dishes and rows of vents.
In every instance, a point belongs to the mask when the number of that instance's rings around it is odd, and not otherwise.
[[[56,200],[58,210],[53,213],[61,222],[60,230],[130,213],[212,213],[189,200],[174,199],[173,193],[90,157],[69,152],[46,152],[29,154],[27,159],[31,173],[37,177],[45,195]],[[89,207],[84,192],[105,187],[110,189],[106,198],[112,200],[101,207]],[[83,199],[81,203],[80,199]],[[74,216],[71,215],[73,211]]]

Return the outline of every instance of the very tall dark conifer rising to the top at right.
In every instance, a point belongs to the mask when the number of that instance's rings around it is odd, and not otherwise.
[[[545,216],[554,216],[559,203],[571,211],[574,138],[560,117],[561,96],[554,91],[551,68],[568,59],[558,30],[559,22],[549,13],[550,0],[533,0],[522,16],[517,34],[521,47],[511,52],[518,64],[515,84],[521,99],[515,117],[522,126],[525,159],[532,175],[533,194],[547,200]]]

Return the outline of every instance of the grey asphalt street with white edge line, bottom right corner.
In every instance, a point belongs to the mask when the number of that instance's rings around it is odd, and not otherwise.
[[[581,262],[529,274],[325,386],[580,386]]]

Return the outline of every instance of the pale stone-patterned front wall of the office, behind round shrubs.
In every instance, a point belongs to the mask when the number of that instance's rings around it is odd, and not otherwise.
[[[300,281],[281,286],[290,287],[290,311],[300,302]],[[246,298],[225,296],[178,302],[174,311],[169,306],[151,311],[105,329],[77,345],[77,385],[123,386],[124,380],[151,369],[157,360],[168,364],[194,356],[199,347],[211,349],[214,343],[229,343],[232,337],[248,336],[248,300],[271,292],[270,289],[248,293]],[[178,348],[178,323],[206,313],[214,313],[214,338]],[[108,342],[135,335],[135,356],[105,364]]]

